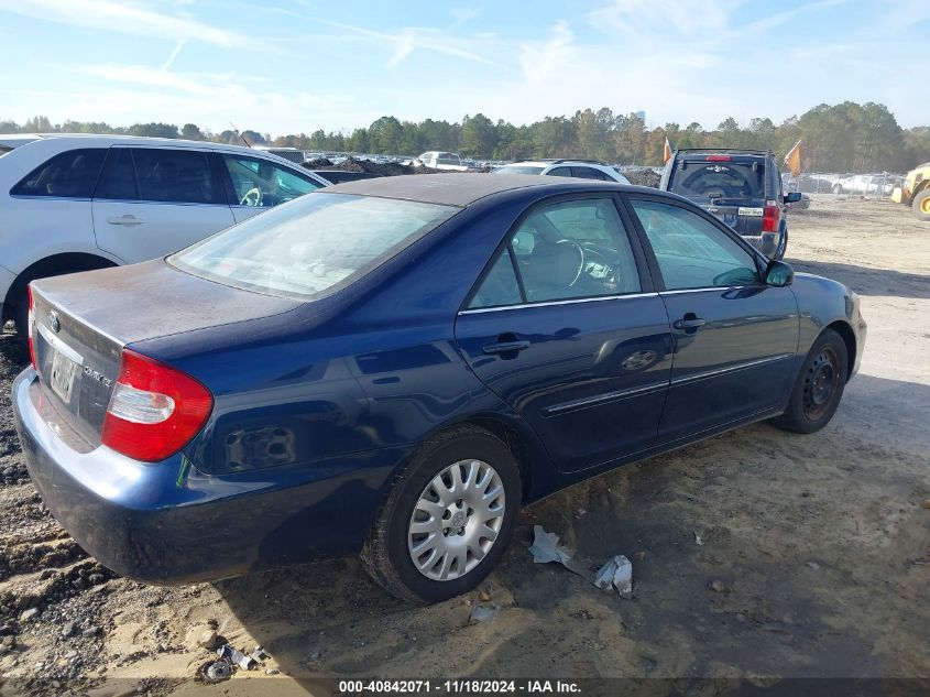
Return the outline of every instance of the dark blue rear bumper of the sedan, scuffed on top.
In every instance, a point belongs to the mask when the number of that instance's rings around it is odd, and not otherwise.
[[[396,449],[209,477],[184,455],[147,465],[75,447],[43,401],[35,371],[13,382],[26,467],[55,519],[105,566],[174,585],[358,549]]]

